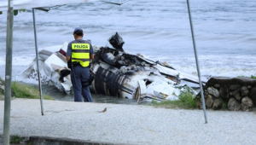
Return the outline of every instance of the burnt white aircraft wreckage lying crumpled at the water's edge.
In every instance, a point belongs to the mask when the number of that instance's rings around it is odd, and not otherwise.
[[[122,48],[125,42],[118,33],[108,41],[113,48],[93,45],[95,59],[90,63],[90,71],[95,78],[90,84],[91,93],[136,99],[137,102],[177,100],[182,91],[196,93],[180,81],[199,84],[197,77],[177,72],[166,63],[148,60],[143,55],[125,52]],[[64,43],[39,51],[41,84],[53,85],[66,94],[73,94],[66,49],[67,43]],[[36,59],[15,80],[38,84]]]

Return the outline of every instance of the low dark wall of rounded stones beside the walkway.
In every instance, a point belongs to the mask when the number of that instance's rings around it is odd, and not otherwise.
[[[207,108],[250,111],[256,105],[256,79],[210,78],[203,86]],[[201,106],[201,93],[197,95]]]

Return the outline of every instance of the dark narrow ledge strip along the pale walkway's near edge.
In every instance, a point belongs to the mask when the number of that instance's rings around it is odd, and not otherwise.
[[[17,135],[10,135],[11,138]],[[84,141],[71,138],[58,138],[49,136],[19,136],[20,144],[30,145],[128,145],[124,143],[113,143],[113,142],[92,142]],[[3,144],[3,134],[0,134],[0,145]]]

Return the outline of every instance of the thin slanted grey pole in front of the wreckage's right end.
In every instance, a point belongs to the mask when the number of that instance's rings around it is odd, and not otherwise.
[[[197,67],[199,83],[200,83],[201,102],[202,102],[202,106],[203,106],[203,109],[204,109],[204,115],[205,115],[205,120],[206,120],[206,124],[207,124],[207,111],[206,111],[206,105],[205,105],[205,98],[204,98],[204,94],[203,94],[204,92],[202,90],[202,85],[201,85],[201,74],[200,74],[199,63],[198,63],[198,60],[197,60],[197,53],[196,53],[196,47],[195,47],[195,37],[194,37],[192,16],[190,14],[189,0],[187,0],[187,5],[188,5],[188,11],[189,11],[189,21],[190,21],[191,34],[192,34],[192,39],[193,39],[193,46],[194,46],[194,51],[195,51],[195,62],[196,62],[196,67]]]

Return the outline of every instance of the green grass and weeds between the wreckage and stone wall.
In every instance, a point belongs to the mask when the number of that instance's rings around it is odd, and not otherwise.
[[[197,107],[197,100],[195,95],[190,92],[182,92],[178,96],[179,100],[176,101],[164,101],[164,102],[156,102],[152,101],[150,105],[154,107],[165,107],[165,108],[184,108],[184,109],[194,109]]]

